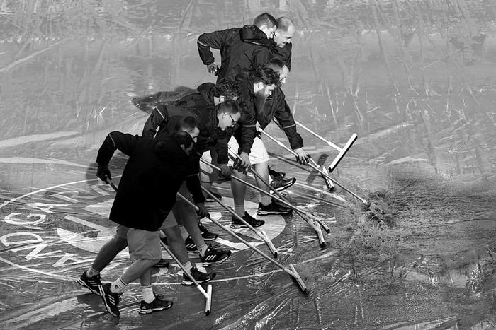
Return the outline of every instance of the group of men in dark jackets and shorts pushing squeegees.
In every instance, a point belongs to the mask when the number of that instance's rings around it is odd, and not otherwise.
[[[291,19],[276,20],[262,13],[252,25],[200,35],[198,52],[208,72],[217,76],[217,82],[201,84],[195,93],[174,105],[157,105],[142,136],[113,131],[106,137],[96,158],[96,175],[100,179],[111,182],[108,163],[115,151],[129,157],[109,216],[117,229],[78,283],[101,295],[106,310],[114,317],[120,315],[120,295],[137,278],[142,291],[140,314],[172,306],[170,300],[152,290],[152,267],[166,264],[161,240],[188,272],[183,274],[184,285],[193,285],[191,276],[198,283],[214,278],[215,273],[204,273],[193,266],[188,254],[196,252],[203,266],[220,264],[231,254],[206,243],[218,235],[199,220],[209,216],[205,201],[213,194],[213,182],[232,175],[245,181],[247,170],[253,166],[258,173],[257,186],[266,192],[294,184],[294,178],[285,179],[283,173],[270,170],[259,129],[275,119],[298,155],[298,163],[308,163],[310,155],[303,149],[303,139],[281,90],[291,69],[294,33]],[[220,66],[211,48],[220,50]],[[200,158],[220,168],[220,172]],[[242,181],[231,180],[231,187],[235,213],[244,221],[233,216],[231,228],[247,227],[245,223],[264,225],[264,220],[245,210],[246,185]],[[178,193],[196,208],[178,198]],[[269,194],[260,195],[257,215],[290,212],[291,208],[277,204]],[[129,248],[133,264],[112,283],[101,283],[101,271],[125,247]]]

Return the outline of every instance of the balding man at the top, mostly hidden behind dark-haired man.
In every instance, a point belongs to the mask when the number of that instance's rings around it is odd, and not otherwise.
[[[279,57],[291,70],[291,39],[295,35],[295,23],[287,17],[280,17],[276,22],[277,29],[271,40],[271,57]]]

